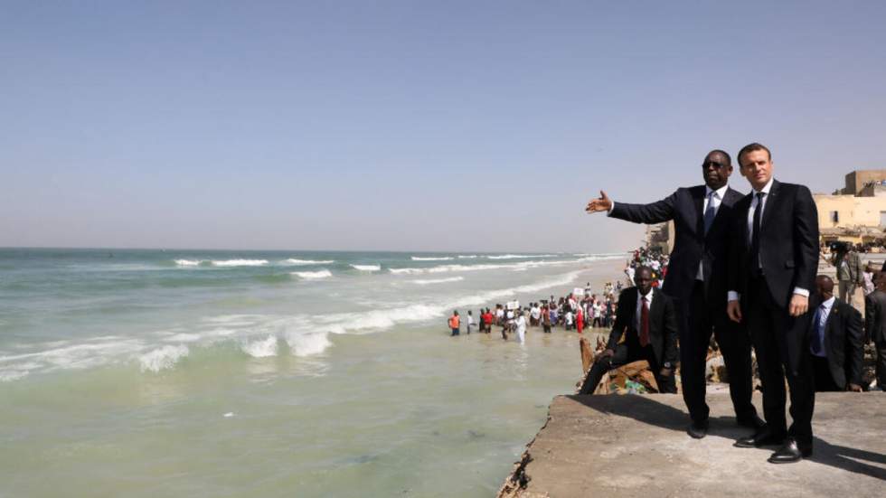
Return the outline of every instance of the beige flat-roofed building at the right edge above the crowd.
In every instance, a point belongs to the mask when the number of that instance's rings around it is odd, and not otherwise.
[[[822,240],[860,243],[882,239],[886,228],[886,169],[846,175],[846,186],[815,193]]]

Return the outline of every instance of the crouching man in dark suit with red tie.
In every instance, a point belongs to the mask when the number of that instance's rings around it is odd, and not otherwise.
[[[677,392],[674,363],[677,361],[677,317],[674,302],[652,287],[652,268],[640,267],[636,287],[618,296],[616,323],[606,350],[588,371],[580,394],[591,394],[607,371],[639,360],[649,362],[660,392]]]

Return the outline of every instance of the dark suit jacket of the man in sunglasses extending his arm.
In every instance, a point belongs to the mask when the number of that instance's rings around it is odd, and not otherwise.
[[[704,285],[711,303],[726,307],[726,230],[732,208],[741,193],[726,190],[711,229],[704,234],[704,185],[680,188],[667,198],[651,204],[615,202],[609,216],[635,223],[674,221],[674,250],[662,289],[668,296],[688,298],[693,292],[698,265],[703,266]]]

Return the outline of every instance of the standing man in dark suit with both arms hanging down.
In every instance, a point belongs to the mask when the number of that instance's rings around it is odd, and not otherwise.
[[[744,146],[739,164],[753,191],[733,210],[727,313],[735,322],[747,318],[767,425],[736,446],[781,445],[769,462],[796,462],[812,455],[815,387],[803,315],[818,270],[818,211],[808,188],[772,177],[765,146]],[[794,419],[789,429],[785,375]]]

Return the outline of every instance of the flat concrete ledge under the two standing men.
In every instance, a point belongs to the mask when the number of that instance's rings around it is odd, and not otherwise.
[[[886,495],[886,393],[818,393],[814,455],[787,465],[769,464],[771,449],[732,446],[749,429],[727,393],[708,404],[711,430],[697,440],[679,395],[558,396],[500,495]],[[762,413],[759,392],[754,404]]]

